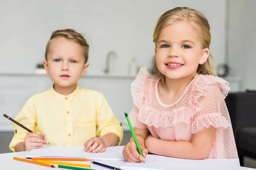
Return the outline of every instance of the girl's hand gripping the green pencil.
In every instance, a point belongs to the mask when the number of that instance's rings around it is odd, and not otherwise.
[[[143,146],[140,146],[140,149],[143,156],[138,152],[135,142],[129,142],[125,145],[122,154],[128,162],[141,162],[143,161],[143,157],[145,158],[147,156],[148,150]]]

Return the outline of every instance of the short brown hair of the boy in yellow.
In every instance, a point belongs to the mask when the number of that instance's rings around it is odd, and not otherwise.
[[[47,55],[49,53],[49,48],[51,45],[52,40],[54,40],[57,37],[64,37],[67,40],[71,40],[73,42],[78,43],[81,45],[81,47],[84,50],[84,63],[88,61],[88,53],[89,53],[89,45],[87,44],[87,41],[84,39],[83,35],[76,32],[74,29],[63,29],[63,30],[57,30],[52,33],[52,36],[50,40],[47,42],[46,50],[45,50],[45,59],[47,60]]]

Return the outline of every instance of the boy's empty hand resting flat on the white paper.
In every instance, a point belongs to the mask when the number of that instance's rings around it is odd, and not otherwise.
[[[84,143],[84,150],[92,153],[104,152],[106,145],[99,137],[92,137]]]

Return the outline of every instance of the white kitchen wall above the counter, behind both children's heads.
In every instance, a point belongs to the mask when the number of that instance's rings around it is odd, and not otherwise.
[[[90,45],[88,74],[101,74],[115,50],[113,74],[128,74],[128,62],[151,68],[157,18],[176,6],[201,11],[209,20],[215,63],[225,61],[225,0],[1,0],[0,73],[32,73],[44,59],[56,29],[75,28]],[[252,8],[252,7],[251,7]]]

